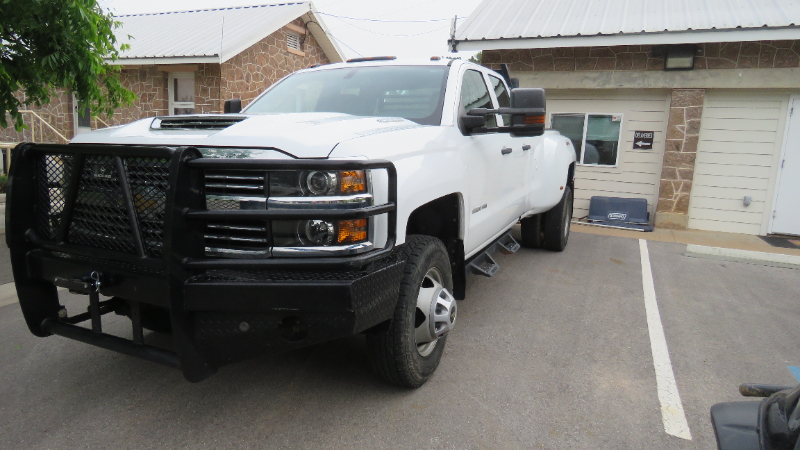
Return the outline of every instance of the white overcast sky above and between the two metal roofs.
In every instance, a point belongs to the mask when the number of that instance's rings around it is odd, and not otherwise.
[[[313,0],[347,58],[447,54],[450,22],[463,22],[481,0]],[[99,0],[115,15],[279,3],[276,0]],[[339,16],[339,17],[335,17]],[[349,17],[351,20],[344,19]],[[369,20],[363,20],[369,19]],[[388,22],[418,21],[418,22]],[[424,21],[424,22],[423,22]],[[176,30],[176,37],[180,32]],[[474,52],[460,52],[468,58]]]

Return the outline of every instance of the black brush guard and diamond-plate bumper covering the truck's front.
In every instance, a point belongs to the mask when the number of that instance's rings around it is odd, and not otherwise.
[[[58,165],[46,165],[53,161]],[[344,211],[204,209],[206,169],[311,168],[385,169],[388,202]],[[61,190],[42,184],[48,170],[67,180]],[[87,197],[96,194],[87,194],[87,178],[116,197]],[[388,161],[210,159],[193,147],[21,144],[12,151],[7,187],[14,281],[37,336],[75,339],[179,368],[189,381],[200,381],[226,363],[368,330],[394,311],[403,262],[394,252],[397,176]],[[204,253],[207,220],[378,214],[388,215],[386,245],[361,255],[213,259]],[[57,287],[88,295],[88,311],[67,316]],[[100,301],[100,294],[112,298]],[[174,351],[144,343],[147,307],[169,312]],[[100,317],[121,310],[131,318],[131,340],[102,332]],[[92,328],[75,325],[83,321]]]

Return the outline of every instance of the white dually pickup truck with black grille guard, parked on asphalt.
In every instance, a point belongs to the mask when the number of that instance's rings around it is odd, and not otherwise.
[[[363,333],[375,371],[417,387],[467,275],[519,248],[516,223],[524,247],[567,244],[575,151],[545,131],[541,89],[466,61],[367,58],[298,71],[239,109],[14,150],[6,239],[34,334],[200,381]],[[103,332],[111,312],[131,338]]]

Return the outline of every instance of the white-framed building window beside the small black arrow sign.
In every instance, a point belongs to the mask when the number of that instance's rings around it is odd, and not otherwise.
[[[622,114],[553,114],[550,124],[572,140],[578,164],[617,165]]]

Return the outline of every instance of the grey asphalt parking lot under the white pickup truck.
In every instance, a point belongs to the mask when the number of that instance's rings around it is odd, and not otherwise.
[[[472,277],[437,373],[413,391],[370,373],[361,337],[191,384],[36,338],[17,304],[2,306],[0,448],[716,448],[712,404],[740,399],[741,382],[796,383],[800,271],[647,248],[691,440],[662,424],[639,241],[573,233],[563,253],[522,249]],[[127,319],[105,317],[129,335]]]

